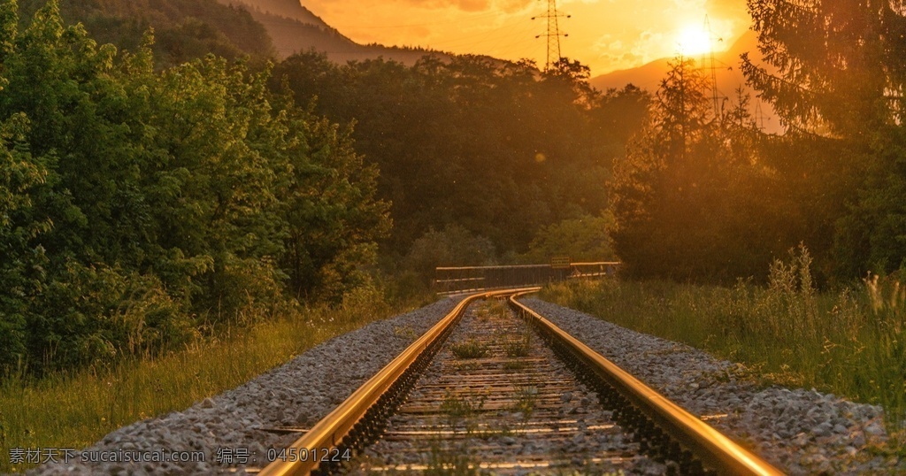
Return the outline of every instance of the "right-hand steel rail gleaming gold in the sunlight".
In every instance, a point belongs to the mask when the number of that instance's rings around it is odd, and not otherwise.
[[[532,291],[510,296],[510,303],[530,318],[538,329],[550,335],[555,341],[568,348],[595,374],[633,403],[661,429],[668,432],[680,444],[685,445],[695,456],[720,474],[732,475],[781,475],[783,471],[763,461],[752,452],[731,441],[728,437],[702,422],[691,413],[670,402],[617,364],[594,352],[590,347],[566,334],[554,323],[545,319],[528,306],[516,301],[516,297]]]

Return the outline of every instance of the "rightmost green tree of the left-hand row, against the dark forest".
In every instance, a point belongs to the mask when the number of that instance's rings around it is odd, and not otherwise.
[[[287,224],[281,266],[295,296],[338,301],[361,285],[361,267],[377,259],[375,241],[390,231],[389,204],[375,198],[377,167],[352,149],[351,131],[310,112],[288,117],[292,177],[284,199]]]

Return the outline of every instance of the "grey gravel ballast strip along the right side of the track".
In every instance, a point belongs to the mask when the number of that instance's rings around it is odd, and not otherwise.
[[[740,367],[705,352],[637,333],[561,306],[527,306],[624,370],[790,474],[904,473],[906,461],[872,456],[884,445],[882,408],[813,390],[763,388]]]

